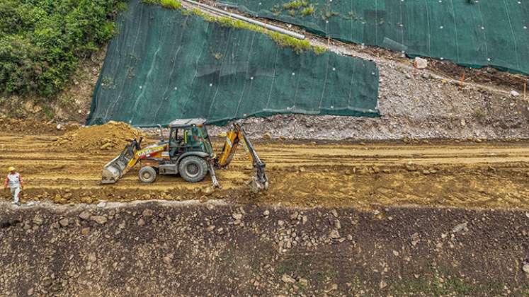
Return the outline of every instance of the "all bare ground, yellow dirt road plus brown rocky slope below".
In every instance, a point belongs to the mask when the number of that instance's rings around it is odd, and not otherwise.
[[[5,296],[528,296],[528,141],[261,139],[254,194],[243,148],[222,189],[101,185],[134,129],[64,129],[0,136]]]

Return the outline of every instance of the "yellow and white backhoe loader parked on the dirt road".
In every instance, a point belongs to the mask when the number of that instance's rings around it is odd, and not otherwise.
[[[154,182],[157,175],[181,175],[187,182],[200,182],[210,173],[214,187],[220,187],[215,169],[227,168],[241,142],[249,153],[254,166],[254,176],[246,182],[254,192],[268,189],[265,163],[259,159],[254,146],[246,137],[244,129],[234,123],[226,134],[226,142],[220,156],[213,153],[205,120],[174,120],[168,126],[169,139],[160,129],[160,142],[141,148],[142,138],[131,139],[119,156],[103,166],[103,184],[117,182],[137,163],[141,182]]]

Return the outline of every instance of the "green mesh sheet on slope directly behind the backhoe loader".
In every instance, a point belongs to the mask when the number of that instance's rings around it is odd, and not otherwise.
[[[118,19],[88,124],[149,127],[278,113],[377,116],[378,70],[362,59],[296,54],[268,35],[131,1]]]

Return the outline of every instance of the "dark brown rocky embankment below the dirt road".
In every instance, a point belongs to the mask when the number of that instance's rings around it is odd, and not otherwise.
[[[0,210],[3,296],[527,296],[527,211],[197,202]]]

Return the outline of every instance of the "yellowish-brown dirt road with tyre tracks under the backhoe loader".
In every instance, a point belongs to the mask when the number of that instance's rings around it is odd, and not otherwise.
[[[137,199],[226,199],[287,206],[385,205],[529,209],[529,142],[481,144],[333,144],[256,141],[271,188],[251,194],[251,166],[240,150],[217,172],[222,190],[205,194],[181,177],[137,180],[137,168],[115,185],[100,185],[101,168],[117,151],[74,152],[52,146],[57,136],[0,136],[0,168],[15,165],[25,177],[24,199],[58,203]],[[220,151],[220,141],[215,141]],[[208,178],[208,177],[207,177]],[[3,197],[8,199],[8,193]]]

